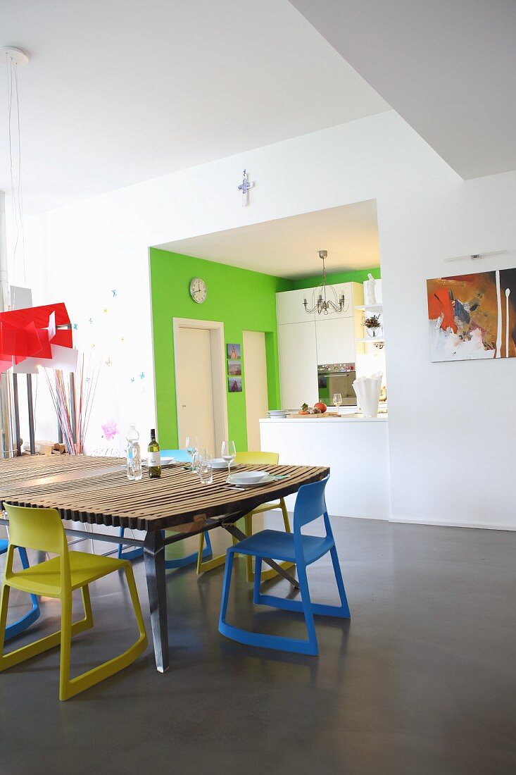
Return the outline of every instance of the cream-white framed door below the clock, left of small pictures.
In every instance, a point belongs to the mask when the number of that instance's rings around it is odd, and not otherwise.
[[[208,329],[177,329],[175,343],[177,432],[179,446],[185,436],[197,436],[199,445],[215,455],[213,416],[212,346]]]

